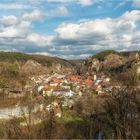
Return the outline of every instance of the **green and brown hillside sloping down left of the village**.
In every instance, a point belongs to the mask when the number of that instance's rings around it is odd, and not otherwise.
[[[76,65],[57,57],[0,52],[0,87],[20,87],[31,75],[75,73]]]

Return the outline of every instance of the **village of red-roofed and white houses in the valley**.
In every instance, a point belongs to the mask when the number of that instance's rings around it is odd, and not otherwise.
[[[100,98],[109,97],[113,86],[111,79],[105,74],[73,75],[48,74],[30,77],[34,84],[36,99],[54,100],[45,106],[40,104],[40,111],[54,111],[55,116],[62,117],[62,108],[71,109],[78,97],[91,94]]]

